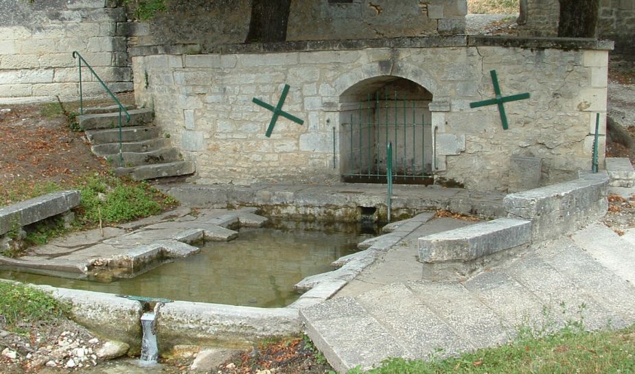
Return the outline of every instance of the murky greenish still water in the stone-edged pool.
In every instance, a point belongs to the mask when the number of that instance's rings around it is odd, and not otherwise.
[[[353,253],[358,242],[373,236],[360,233],[358,226],[338,229],[240,229],[238,238],[231,242],[207,243],[198,255],[111,283],[16,271],[0,271],[0,278],[111,294],[284,307],[299,297],[293,290],[295,283],[333,270],[332,261]]]

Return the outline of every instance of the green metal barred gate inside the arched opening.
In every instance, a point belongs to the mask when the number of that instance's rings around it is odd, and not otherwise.
[[[395,183],[432,183],[432,126],[428,101],[379,91],[344,108],[340,170],[345,182],[386,183],[386,145],[392,143]]]

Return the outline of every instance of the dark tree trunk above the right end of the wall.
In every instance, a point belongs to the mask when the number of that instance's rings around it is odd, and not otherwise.
[[[559,0],[558,36],[595,38],[599,18],[599,0]]]

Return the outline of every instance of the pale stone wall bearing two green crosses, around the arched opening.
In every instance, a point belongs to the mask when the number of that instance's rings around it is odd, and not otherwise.
[[[269,52],[236,45],[216,54],[131,53],[137,104],[154,106],[155,123],[196,161],[199,183],[339,180],[340,111],[350,104],[343,94],[391,75],[432,94],[437,179],[505,190],[512,156],[542,159],[543,185],[588,169],[596,113],[602,158],[610,47],[454,36],[289,43]],[[531,93],[505,104],[507,131],[496,106],[469,106],[494,97],[492,69],[503,95]],[[281,118],[266,138],[272,113],[252,99],[275,105],[285,83],[291,89],[283,109],[305,123]]]

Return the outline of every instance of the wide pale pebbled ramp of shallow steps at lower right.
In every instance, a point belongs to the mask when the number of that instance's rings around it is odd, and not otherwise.
[[[580,312],[587,329],[626,327],[635,323],[635,264],[585,248],[599,231],[619,240],[591,226],[467,281],[393,283],[306,307],[300,318],[338,373],[391,357],[429,360],[503,344],[520,326],[559,329]],[[634,246],[619,248],[635,258]]]

